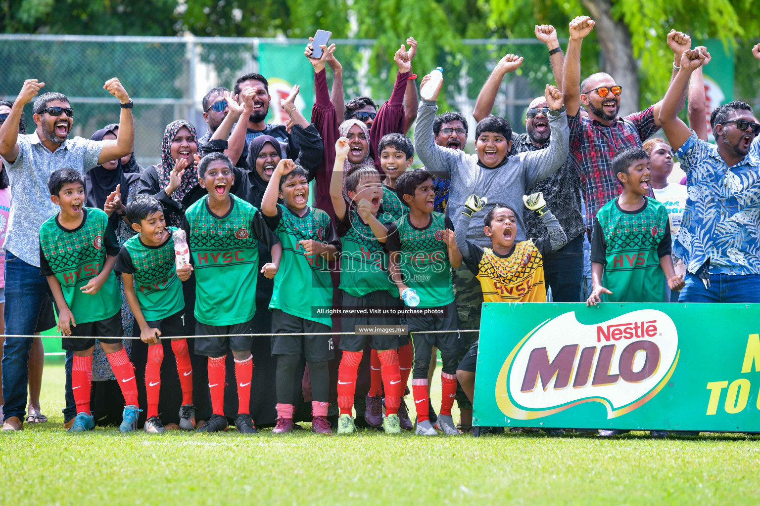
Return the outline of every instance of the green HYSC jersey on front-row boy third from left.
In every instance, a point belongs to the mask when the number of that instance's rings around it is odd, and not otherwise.
[[[261,213],[245,200],[230,195],[230,211],[217,216],[208,198],[190,206],[182,223],[195,269],[195,319],[217,326],[245,323],[256,311],[258,241],[267,240],[268,232]]]

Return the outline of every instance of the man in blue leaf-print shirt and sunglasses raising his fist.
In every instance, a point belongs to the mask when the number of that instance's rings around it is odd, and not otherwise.
[[[760,302],[760,124],[749,104],[720,105],[710,116],[713,146],[678,118],[680,96],[707,56],[682,55],[660,111],[689,189],[673,245],[687,271],[679,302]]]

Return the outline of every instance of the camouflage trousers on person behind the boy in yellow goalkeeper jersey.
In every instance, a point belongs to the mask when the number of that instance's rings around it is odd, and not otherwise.
[[[479,330],[480,313],[483,308],[483,291],[480,288],[480,281],[470,272],[470,269],[462,265],[454,271],[452,283],[454,284],[454,302],[457,304],[457,313],[459,313],[459,329]],[[461,334],[462,347],[459,350],[459,360],[464,358],[467,350],[479,336],[479,332]],[[471,410],[473,407],[459,384],[457,384],[457,404],[460,410]]]

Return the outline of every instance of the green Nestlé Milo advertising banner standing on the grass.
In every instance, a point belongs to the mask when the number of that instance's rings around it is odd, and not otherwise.
[[[760,431],[760,304],[485,303],[477,426]]]

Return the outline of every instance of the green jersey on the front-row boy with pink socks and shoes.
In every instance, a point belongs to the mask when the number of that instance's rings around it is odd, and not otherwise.
[[[319,240],[340,250],[340,240],[328,213],[310,208],[299,216],[287,206],[277,204],[277,216],[264,216],[283,245],[280,269],[274,276],[274,291],[269,309],[323,323],[332,328],[329,313],[321,315],[313,308],[332,308],[333,284],[328,262],[321,255],[306,255],[299,240]]]

